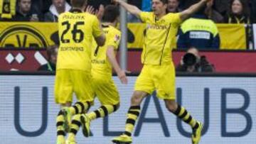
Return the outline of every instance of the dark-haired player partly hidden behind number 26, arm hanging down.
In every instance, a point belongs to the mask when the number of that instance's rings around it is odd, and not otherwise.
[[[117,72],[122,84],[127,84],[127,77],[124,70],[119,67],[115,57],[121,38],[121,32],[115,28],[118,21],[118,6],[107,6],[102,17],[102,28],[106,35],[106,43],[103,46],[98,46],[97,43],[92,45],[92,88],[102,106],[90,113],[73,116],[67,144],[76,143],[75,135],[81,125],[83,135],[88,137],[91,121],[108,116],[119,109],[119,93],[112,79],[112,68]]]

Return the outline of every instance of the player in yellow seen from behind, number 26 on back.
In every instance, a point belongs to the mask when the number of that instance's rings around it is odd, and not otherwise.
[[[72,9],[59,16],[57,71],[55,76],[55,102],[61,110],[56,118],[57,144],[65,144],[65,133],[70,131],[73,115],[84,113],[93,101],[91,77],[91,45],[105,44],[105,34],[97,17],[83,13],[85,0],[71,0]],[[78,102],[71,106],[73,92]]]

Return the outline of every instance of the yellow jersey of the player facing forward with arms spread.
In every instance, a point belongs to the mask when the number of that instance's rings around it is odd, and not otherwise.
[[[168,13],[159,20],[152,12],[139,14],[146,23],[146,35],[142,51],[142,64],[168,65],[172,61],[171,45],[181,24],[180,13]]]

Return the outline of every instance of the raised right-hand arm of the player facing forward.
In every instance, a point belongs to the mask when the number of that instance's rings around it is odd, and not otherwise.
[[[193,13],[196,13],[199,9],[206,5],[206,3],[211,0],[201,0],[196,4],[193,4],[188,9],[181,12],[181,21],[185,21],[189,18]]]

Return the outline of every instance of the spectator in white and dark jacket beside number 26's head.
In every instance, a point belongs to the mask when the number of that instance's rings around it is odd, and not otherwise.
[[[58,16],[60,13],[67,12],[70,9],[71,6],[65,0],[53,0],[53,4],[44,16],[44,21],[58,22]]]

